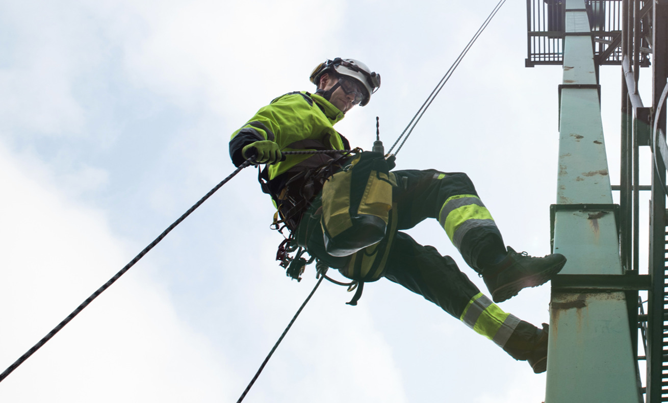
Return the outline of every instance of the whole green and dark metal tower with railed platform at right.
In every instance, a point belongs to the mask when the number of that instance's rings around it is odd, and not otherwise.
[[[526,66],[563,69],[550,213],[552,248],[568,263],[552,281],[545,403],[668,402],[668,0],[527,0],[527,25]],[[621,65],[622,72],[621,174],[614,186],[601,65]],[[653,91],[644,106],[638,83],[648,66]],[[643,175],[641,148],[651,159]],[[643,249],[641,191],[650,192]]]

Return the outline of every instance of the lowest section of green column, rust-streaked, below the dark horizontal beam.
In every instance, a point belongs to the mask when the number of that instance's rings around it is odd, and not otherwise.
[[[627,337],[623,292],[552,293],[545,403],[638,402]]]

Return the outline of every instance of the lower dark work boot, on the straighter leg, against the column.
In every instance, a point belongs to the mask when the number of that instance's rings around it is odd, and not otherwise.
[[[542,327],[538,329],[531,323],[521,321],[503,348],[515,360],[528,362],[535,374],[547,370],[547,342],[550,331],[547,323],[543,323]]]

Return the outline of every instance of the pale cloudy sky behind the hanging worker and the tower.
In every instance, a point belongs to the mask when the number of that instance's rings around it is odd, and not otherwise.
[[[381,74],[336,128],[370,149],[379,116],[389,147],[496,3],[0,0],[0,371],[230,174],[230,134],[314,90],[316,65]],[[467,172],[506,243],[542,256],[562,72],[524,68],[525,7],[500,9],[397,169]],[[619,77],[601,69],[613,184]],[[0,401],[236,402],[317,281],[275,261],[273,213],[255,168],[240,172],[3,380]],[[437,221],[409,233],[485,290]],[[381,279],[351,297],[323,283],[244,402],[542,402],[544,374],[419,295]],[[540,326],[549,299],[543,285],[501,307]]]

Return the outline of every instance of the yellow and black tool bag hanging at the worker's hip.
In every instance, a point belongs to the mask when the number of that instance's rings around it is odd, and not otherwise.
[[[349,256],[381,241],[392,209],[389,166],[378,152],[362,152],[323,186],[321,225],[325,250]]]

